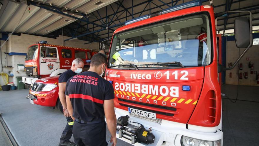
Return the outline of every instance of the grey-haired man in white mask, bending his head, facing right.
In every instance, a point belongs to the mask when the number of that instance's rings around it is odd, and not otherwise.
[[[65,97],[65,90],[66,90],[66,84],[67,80],[76,75],[77,73],[82,72],[82,68],[84,67],[84,62],[80,58],[76,58],[72,62],[72,66],[69,70],[65,71],[59,76],[59,100],[63,106],[63,113],[64,116],[67,118],[67,125],[60,137],[59,146],[74,146],[74,142],[70,142],[69,139],[72,137],[72,129],[74,121],[69,116],[69,112],[67,111],[67,103],[66,103],[66,97]]]

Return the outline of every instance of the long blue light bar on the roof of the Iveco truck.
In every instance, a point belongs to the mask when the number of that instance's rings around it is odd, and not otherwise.
[[[201,0],[193,0],[193,1],[183,3],[183,4],[179,4],[177,6],[173,6],[173,7],[164,9],[164,10],[158,12],[157,15],[162,15],[162,14],[165,14],[165,13],[174,12],[174,11],[177,11],[177,10],[186,9],[186,8],[190,8],[190,7],[194,7],[194,6],[201,6],[201,5],[202,5]],[[144,19],[147,19],[147,18],[151,18],[152,16],[157,16],[157,15],[153,15],[153,13],[152,13],[152,14],[147,14],[147,15],[141,16],[141,17],[137,17],[137,18],[126,21],[125,25],[131,24],[131,23],[134,23],[134,22],[138,22],[138,21],[141,21],[141,20],[144,20]]]

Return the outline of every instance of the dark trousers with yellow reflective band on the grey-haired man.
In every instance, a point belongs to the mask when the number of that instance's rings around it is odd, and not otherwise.
[[[69,139],[72,137],[72,129],[73,129],[73,119],[71,117],[66,117],[67,118],[67,125],[60,137],[60,143],[64,142],[69,142]]]

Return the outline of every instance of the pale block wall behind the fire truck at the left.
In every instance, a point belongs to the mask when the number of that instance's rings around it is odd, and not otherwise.
[[[22,55],[6,56],[4,52],[27,53],[27,48],[30,45],[35,44],[36,42],[39,42],[41,40],[46,40],[49,44],[52,44],[52,45],[61,45],[61,46],[65,45],[68,47],[79,47],[79,48],[86,48],[90,50],[99,50],[98,42],[84,45],[84,43],[86,43],[87,41],[71,40],[71,41],[66,41],[64,43],[63,40],[68,38],[70,37],[59,36],[56,39],[53,39],[48,37],[39,37],[39,36],[27,35],[27,34],[21,34],[20,36],[12,35],[9,38],[9,40],[5,43],[5,45],[2,47],[1,57],[2,57],[3,66],[13,66],[13,67],[11,68],[4,67],[2,72],[0,70],[0,73],[8,73],[9,71],[12,71],[14,73],[14,76],[9,77],[9,82],[14,82],[15,85],[17,85],[16,76],[26,76],[25,72],[17,73],[17,64],[25,64],[24,61],[26,56],[22,56]],[[3,44],[4,41],[1,41],[1,43]],[[7,57],[7,61],[5,59],[6,57]],[[1,67],[1,63],[0,63],[0,67]],[[2,78],[0,79],[0,84],[3,85]]]

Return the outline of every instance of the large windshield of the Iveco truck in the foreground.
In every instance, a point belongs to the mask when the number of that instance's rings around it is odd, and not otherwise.
[[[209,17],[187,16],[115,34],[109,68],[205,66],[211,62]],[[162,64],[164,63],[164,64]]]

